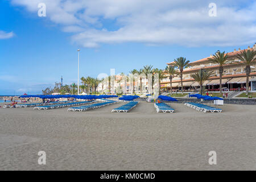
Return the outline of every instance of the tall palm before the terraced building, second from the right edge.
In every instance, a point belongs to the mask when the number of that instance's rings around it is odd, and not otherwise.
[[[225,54],[224,52],[217,51],[215,55],[213,55],[213,58],[208,58],[210,63],[218,64],[218,72],[220,73],[220,93],[222,93],[222,74],[223,74],[223,65],[228,64],[231,61],[228,60],[228,54]]]

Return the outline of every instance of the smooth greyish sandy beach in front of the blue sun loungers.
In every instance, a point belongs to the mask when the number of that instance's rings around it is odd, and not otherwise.
[[[0,169],[256,169],[255,105],[202,113],[174,103],[175,113],[156,113],[141,102],[130,113],[111,113],[122,104],[82,113],[0,108]],[[39,151],[46,165],[38,164]],[[217,152],[216,165],[209,151]]]

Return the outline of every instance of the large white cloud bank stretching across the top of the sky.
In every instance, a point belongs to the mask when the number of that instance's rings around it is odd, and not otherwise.
[[[205,0],[12,0],[28,11],[46,3],[48,18],[73,32],[84,47],[138,42],[148,45],[236,46],[256,40],[256,2],[214,1],[217,16],[209,17]],[[111,22],[111,23],[106,23]],[[116,27],[111,30],[108,27]]]

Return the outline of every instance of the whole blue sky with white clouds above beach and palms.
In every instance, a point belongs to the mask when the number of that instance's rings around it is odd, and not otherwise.
[[[46,17],[39,17],[39,2]],[[0,95],[40,94],[80,76],[163,69],[179,56],[195,61],[218,49],[256,42],[255,1],[0,1]]]

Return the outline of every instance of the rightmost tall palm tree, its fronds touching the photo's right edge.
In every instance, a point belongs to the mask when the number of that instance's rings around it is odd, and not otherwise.
[[[242,51],[241,54],[238,53],[236,56],[238,59],[241,60],[241,63],[245,65],[245,73],[246,73],[246,96],[248,95],[249,90],[249,76],[251,73],[251,65],[255,63],[256,61],[256,51],[250,51],[250,49],[247,49],[247,51]]]

